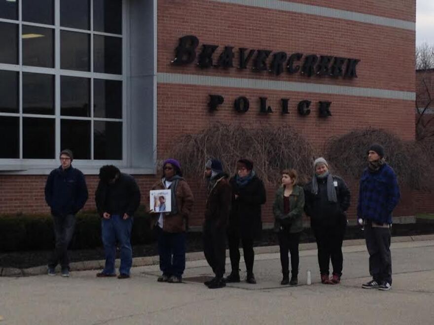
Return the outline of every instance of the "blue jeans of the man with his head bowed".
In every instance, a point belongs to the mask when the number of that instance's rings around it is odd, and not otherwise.
[[[133,217],[123,220],[119,215],[111,215],[110,219],[101,219],[101,232],[106,253],[106,266],[103,273],[115,274],[114,259],[116,258],[117,241],[120,248],[119,273],[130,274],[133,263],[133,249],[130,242],[132,227]]]

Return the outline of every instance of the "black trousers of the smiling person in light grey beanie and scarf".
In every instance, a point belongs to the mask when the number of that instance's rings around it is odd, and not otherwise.
[[[342,241],[345,235],[345,225],[313,225],[318,247],[318,263],[320,273],[328,275],[329,265],[333,266],[333,274],[342,275]]]

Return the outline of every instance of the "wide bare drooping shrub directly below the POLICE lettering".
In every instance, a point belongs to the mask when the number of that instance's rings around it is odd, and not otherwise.
[[[284,168],[296,169],[300,182],[306,182],[311,177],[314,151],[290,127],[246,128],[219,123],[200,133],[182,136],[170,155],[181,162],[185,176],[195,179],[202,178],[209,158],[220,160],[229,173],[240,158],[248,158],[264,182],[276,184]]]

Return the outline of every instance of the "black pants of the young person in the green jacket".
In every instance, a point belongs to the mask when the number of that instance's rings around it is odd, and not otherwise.
[[[289,233],[288,230],[281,230],[278,234],[280,246],[280,262],[282,264],[282,273],[285,277],[289,276],[289,258],[288,252],[291,255],[291,275],[298,275],[298,264],[300,258],[298,256],[298,243],[300,242],[300,233]]]

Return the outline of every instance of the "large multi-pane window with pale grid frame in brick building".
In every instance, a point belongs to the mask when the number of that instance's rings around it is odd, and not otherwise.
[[[125,161],[123,0],[0,0],[0,159]],[[37,160],[37,161],[36,161]]]

